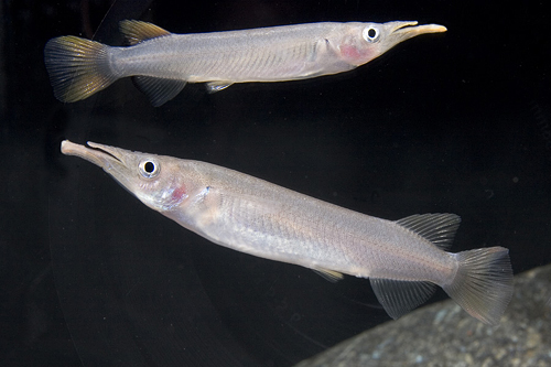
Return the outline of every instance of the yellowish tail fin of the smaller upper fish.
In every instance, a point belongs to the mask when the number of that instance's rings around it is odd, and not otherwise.
[[[50,40],[44,63],[55,97],[64,102],[77,101],[117,80],[109,65],[109,48],[73,35]]]

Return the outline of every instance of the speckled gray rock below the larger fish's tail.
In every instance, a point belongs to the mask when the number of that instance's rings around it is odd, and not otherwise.
[[[313,366],[551,366],[551,265],[515,276],[498,326],[453,301],[419,309],[301,361]]]

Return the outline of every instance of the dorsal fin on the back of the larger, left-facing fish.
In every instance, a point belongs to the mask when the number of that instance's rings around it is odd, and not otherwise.
[[[396,224],[426,238],[439,248],[449,250],[460,228],[461,217],[450,213],[415,214],[397,220]]]

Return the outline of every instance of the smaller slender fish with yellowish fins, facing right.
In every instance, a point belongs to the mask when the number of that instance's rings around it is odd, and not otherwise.
[[[311,23],[198,34],[172,34],[151,23],[120,23],[131,46],[111,47],[77,36],[52,39],[44,61],[55,96],[85,99],[134,76],[153,106],[174,98],[186,83],[207,82],[210,91],[234,83],[283,82],[337,74],[380,56],[437,24]]]

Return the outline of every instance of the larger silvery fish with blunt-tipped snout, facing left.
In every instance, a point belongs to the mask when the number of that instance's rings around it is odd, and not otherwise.
[[[348,211],[214,164],[65,140],[62,152],[101,166],[143,204],[231,249],[369,278],[390,316],[426,301],[437,284],[466,312],[497,324],[512,293],[508,250],[446,252],[460,217],[391,222]]]

